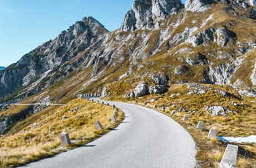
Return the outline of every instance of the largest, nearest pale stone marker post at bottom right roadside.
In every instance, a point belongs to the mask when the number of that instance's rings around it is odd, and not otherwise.
[[[222,161],[220,161],[219,168],[236,167],[236,158],[238,153],[237,145],[227,145]]]

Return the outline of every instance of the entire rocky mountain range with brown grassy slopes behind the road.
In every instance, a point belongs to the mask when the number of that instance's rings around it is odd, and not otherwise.
[[[116,31],[83,18],[1,71],[0,96],[57,101],[158,74],[169,84],[255,87],[255,11],[253,0],[135,0]]]

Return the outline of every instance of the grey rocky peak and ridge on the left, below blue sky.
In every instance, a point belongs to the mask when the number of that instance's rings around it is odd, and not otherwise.
[[[45,42],[23,56],[16,64],[12,64],[0,72],[0,97],[12,93],[21,86],[28,86],[36,78],[42,80],[48,74],[56,75],[56,71],[53,69],[59,69],[72,58],[79,56],[87,47],[99,42],[108,32],[101,23],[92,17],[83,18],[69,26],[56,39]],[[73,70],[69,66],[63,68],[64,75]],[[40,80],[31,87],[29,86],[28,90],[34,89]],[[57,80],[59,79],[56,79],[55,82]],[[41,85],[31,93],[37,93],[44,87],[48,86]]]

